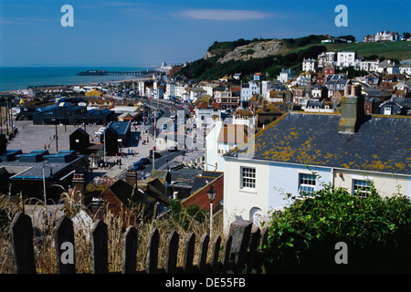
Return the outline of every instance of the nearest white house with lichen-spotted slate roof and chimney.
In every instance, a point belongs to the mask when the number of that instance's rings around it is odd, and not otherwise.
[[[411,197],[411,118],[364,116],[360,86],[344,89],[341,112],[290,112],[224,155],[225,228],[241,216],[258,221],[290,204],[287,193],[323,183],[367,195]]]

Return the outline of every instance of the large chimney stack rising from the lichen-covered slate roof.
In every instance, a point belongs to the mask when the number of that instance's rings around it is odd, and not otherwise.
[[[348,95],[347,93],[351,93]],[[344,88],[344,96],[341,99],[341,118],[338,131],[344,134],[353,134],[359,128],[364,119],[364,97],[361,94],[361,86],[353,85]]]

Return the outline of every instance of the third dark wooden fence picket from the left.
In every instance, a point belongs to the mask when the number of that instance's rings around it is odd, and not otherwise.
[[[90,235],[91,273],[109,273],[109,248],[107,224],[98,219],[93,224]]]

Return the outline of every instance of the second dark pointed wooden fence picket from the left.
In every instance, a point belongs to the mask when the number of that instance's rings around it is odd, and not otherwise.
[[[76,273],[76,256],[74,255],[73,222],[67,216],[58,220],[53,230],[56,266],[58,274]]]

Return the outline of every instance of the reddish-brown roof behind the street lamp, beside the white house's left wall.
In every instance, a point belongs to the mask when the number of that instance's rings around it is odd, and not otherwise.
[[[213,201],[213,207],[216,207],[216,205],[224,199],[224,174],[221,174],[211,183],[208,183],[205,187],[186,198],[182,203],[183,206],[188,207],[195,204],[202,210],[210,211],[210,200],[208,199],[207,192],[210,190],[211,185],[213,186],[213,190],[216,191],[216,199]]]

